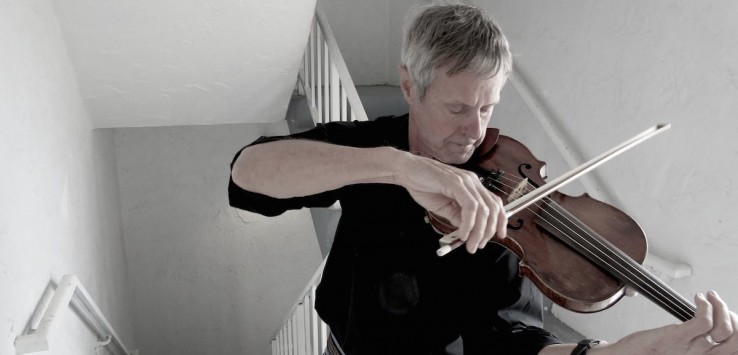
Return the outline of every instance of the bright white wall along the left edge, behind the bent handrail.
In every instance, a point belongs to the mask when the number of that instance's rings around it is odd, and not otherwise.
[[[0,43],[0,354],[67,273],[134,349],[112,132],[91,128],[51,1],[0,1]],[[72,312],[51,339],[94,346]]]

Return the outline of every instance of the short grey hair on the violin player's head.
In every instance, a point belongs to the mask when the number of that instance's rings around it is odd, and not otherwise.
[[[469,71],[492,77],[512,71],[507,38],[497,23],[479,8],[462,3],[422,6],[405,21],[401,64],[407,68],[422,101],[436,69],[454,60],[448,71]]]

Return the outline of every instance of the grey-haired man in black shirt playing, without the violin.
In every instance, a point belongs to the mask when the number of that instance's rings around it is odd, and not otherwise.
[[[231,205],[268,216],[342,206],[317,291],[331,354],[738,354],[738,318],[714,292],[693,319],[610,343],[561,344],[542,295],[518,273],[502,200],[463,164],[512,70],[507,40],[477,8],[422,8],[399,66],[409,113],[262,137],[232,163]],[[466,251],[439,258],[426,212]]]

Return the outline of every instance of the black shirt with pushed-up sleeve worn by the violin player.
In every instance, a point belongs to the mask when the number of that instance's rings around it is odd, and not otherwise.
[[[408,116],[328,123],[252,144],[280,139],[407,151]],[[440,236],[400,186],[357,184],[276,199],[231,179],[228,194],[232,206],[268,216],[340,201],[316,308],[346,354],[460,354],[446,349],[459,337],[465,355],[536,354],[559,342],[540,328],[542,296],[519,276],[514,254],[490,243],[473,255],[459,248],[436,256]]]

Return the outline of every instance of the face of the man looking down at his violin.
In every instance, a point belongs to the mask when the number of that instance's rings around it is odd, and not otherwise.
[[[423,101],[402,67],[400,80],[410,107],[411,152],[447,164],[461,164],[482,143],[506,77],[500,73],[483,78],[469,72],[448,76],[452,65],[438,68]]]

